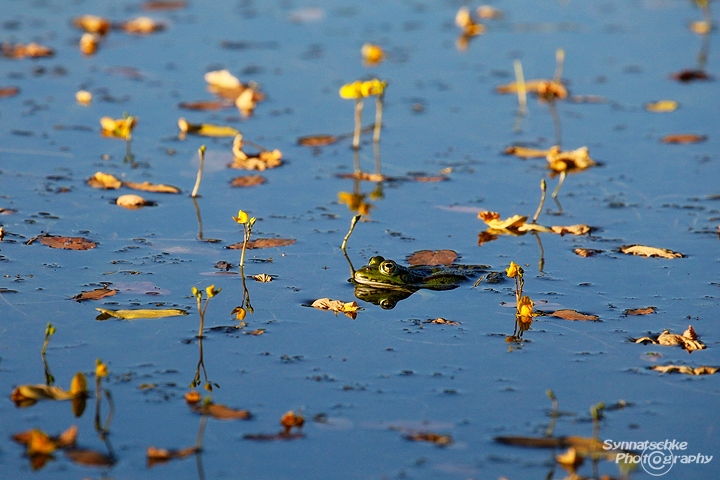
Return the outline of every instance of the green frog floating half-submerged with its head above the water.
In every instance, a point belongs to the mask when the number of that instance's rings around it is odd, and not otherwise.
[[[366,287],[407,292],[415,292],[421,288],[449,290],[474,274],[489,268],[487,265],[403,267],[393,260],[386,260],[378,255],[372,257],[367,265],[356,270],[352,281]]]

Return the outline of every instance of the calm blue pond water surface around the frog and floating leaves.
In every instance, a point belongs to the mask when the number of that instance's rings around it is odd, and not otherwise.
[[[702,2],[698,2],[702,3]],[[5,2],[0,38],[37,42],[50,58],[0,59],[0,470],[7,478],[562,478],[556,449],[503,445],[496,436],[542,437],[551,423],[552,390],[562,415],[555,437],[593,435],[590,408],[604,402],[599,438],[687,442],[678,455],[720,452],[718,377],[660,373],[652,365],[720,366],[718,306],[718,131],[720,63],[717,32],[698,35],[703,19],[693,2],[493,2],[499,19],[482,20],[484,34],[457,45],[458,1],[188,2],[147,11],[138,2]],[[467,4],[474,15],[480,4]],[[93,14],[115,22],[150,15],[166,28],[149,35],[111,31],[98,51],[83,56],[82,32],[72,25]],[[385,60],[365,66],[365,43]],[[570,97],[528,97],[518,117],[514,94],[495,87],[551,79],[557,49],[565,52],[563,81]],[[266,99],[252,116],[234,106],[191,111],[182,102],[210,100],[203,76],[227,69],[257,82]],[[708,80],[671,75],[702,70]],[[382,137],[363,135],[358,159],[383,182],[352,178],[349,138],[309,148],[297,139],[353,129],[353,101],[339,88],[358,79],[388,81]],[[78,90],[90,105],[75,101]],[[648,102],[675,100],[673,112]],[[364,125],[375,101],[365,101]],[[100,118],[138,118],[129,145],[100,135]],[[180,117],[229,125],[246,139],[279,149],[284,164],[262,172],[228,169],[232,137],[178,138]],[[668,144],[669,134],[704,141]],[[567,176],[558,200],[549,193],[544,158],[503,154],[511,145],[563,150],[587,146],[598,166]],[[190,198],[207,146],[200,197]],[[249,148],[252,150],[252,148]],[[130,152],[130,155],[128,155]],[[115,199],[131,191],[94,189],[96,172],[123,181],[179,187],[178,195],[137,192],[154,206],[127,210]],[[266,183],[234,188],[238,175]],[[416,181],[418,176],[429,180]],[[585,235],[499,235],[477,213],[532,217],[540,180],[548,198],[537,223],[587,224]],[[344,194],[343,194],[344,192]],[[351,193],[371,205],[348,241],[359,268],[372,256],[407,264],[419,250],[453,250],[462,264],[504,272],[524,268],[524,293],[538,311],[577,310],[599,321],[535,317],[514,335],[514,283],[466,282],[447,291],[422,289],[392,309],[354,297],[340,249],[357,212],[339,199]],[[364,196],[363,196],[364,195]],[[252,238],[293,239],[288,246],[247,252],[241,282],[242,227],[238,209],[256,217]],[[202,224],[199,225],[199,217]],[[199,229],[202,229],[199,231]],[[49,233],[84,237],[86,251],[48,248],[31,238]],[[198,239],[217,239],[203,242]],[[641,244],[680,252],[664,259],[620,253]],[[602,250],[581,257],[576,248]],[[230,262],[230,272],[215,267]],[[117,294],[76,302],[103,285]],[[202,452],[148,466],[149,446],[195,445],[202,416],[185,394],[198,367],[198,312],[193,286],[222,291],[209,303],[202,342],[215,404],[247,409],[250,420],[207,418]],[[235,319],[246,295],[253,312]],[[319,298],[356,300],[357,318],[309,308]],[[655,307],[648,315],[628,309]],[[182,308],[187,316],[97,321],[105,309]],[[426,323],[444,318],[459,324]],[[48,322],[56,328],[46,361],[55,384],[67,388],[84,372],[91,397],[82,416],[70,402],[18,408],[13,389],[46,381],[40,350]],[[692,325],[707,348],[635,344],[630,338]],[[242,328],[236,328],[242,327]],[[262,329],[260,335],[250,335]],[[103,379],[100,424],[95,420],[94,366]],[[108,402],[108,398],[112,401]],[[112,418],[102,431],[112,404]],[[618,408],[610,408],[616,406]],[[305,424],[300,437],[266,441],[247,435],[281,430],[289,410]],[[78,446],[110,457],[87,466],[61,451],[32,471],[13,434],[38,428],[57,435],[78,426]],[[432,432],[452,438],[440,447],[406,436]],[[264,437],[263,437],[264,438]],[[612,461],[582,475],[621,476]],[[720,458],[674,465],[665,478],[711,478]],[[638,466],[631,477],[647,477]]]

